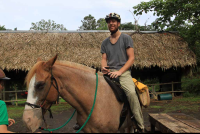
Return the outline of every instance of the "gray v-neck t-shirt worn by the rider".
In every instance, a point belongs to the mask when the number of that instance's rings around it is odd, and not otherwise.
[[[101,45],[101,53],[106,53],[107,65],[112,69],[119,70],[128,61],[126,53],[127,48],[133,48],[133,40],[127,35],[121,33],[118,41],[115,44],[110,42],[110,37],[106,38]]]

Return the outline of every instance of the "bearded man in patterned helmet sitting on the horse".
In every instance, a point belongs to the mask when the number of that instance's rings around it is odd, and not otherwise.
[[[111,35],[101,45],[102,73],[110,75],[111,78],[119,77],[120,84],[130,103],[133,117],[137,121],[139,131],[144,132],[143,115],[130,70],[130,67],[134,63],[133,40],[129,35],[119,31],[120,15],[110,13],[106,16],[105,20]]]

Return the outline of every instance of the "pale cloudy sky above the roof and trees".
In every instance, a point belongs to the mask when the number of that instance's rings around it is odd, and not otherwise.
[[[91,14],[96,20],[115,12],[121,23],[134,23],[133,6],[150,0],[0,0],[0,25],[6,29],[30,30],[31,23],[54,20],[67,30],[77,30],[81,20]],[[129,11],[130,10],[130,11]],[[139,25],[155,21],[153,13],[135,16]]]

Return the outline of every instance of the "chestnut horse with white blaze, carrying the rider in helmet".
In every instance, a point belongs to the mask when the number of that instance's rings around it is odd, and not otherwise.
[[[43,121],[42,114],[45,114],[46,110],[57,100],[59,93],[77,110],[77,123],[80,126],[86,121],[93,105],[96,87],[95,69],[72,62],[59,62],[56,59],[57,55],[47,62],[37,61],[26,77],[28,105],[25,106],[23,121],[32,132],[39,128]],[[51,86],[52,75],[57,81],[53,81],[54,86]],[[113,90],[101,72],[98,73],[98,80],[94,110],[82,130],[86,133],[117,132],[123,103],[117,101]],[[133,128],[133,126],[136,125],[131,121],[129,111],[120,132],[125,132],[125,128]]]

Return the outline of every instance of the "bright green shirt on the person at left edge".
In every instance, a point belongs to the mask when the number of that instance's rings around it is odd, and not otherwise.
[[[0,125],[8,125],[8,112],[4,101],[0,100]]]

